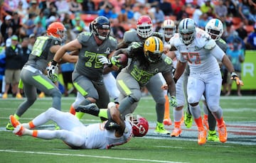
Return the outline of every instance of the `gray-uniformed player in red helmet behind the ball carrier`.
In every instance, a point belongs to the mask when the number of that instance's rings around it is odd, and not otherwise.
[[[164,36],[162,35],[162,33],[153,32],[153,23],[151,21],[151,18],[149,16],[141,16],[137,20],[137,30],[128,30],[127,32],[125,32],[123,40],[117,45],[117,49],[126,48],[132,42],[138,42],[143,44],[146,38],[149,38],[150,36],[157,36],[161,38],[161,40],[164,40]],[[148,89],[150,94],[153,96],[154,101],[156,102],[157,123],[156,123],[156,130],[154,132],[159,134],[169,135],[170,132],[164,128],[164,123],[163,123],[165,105],[166,103],[169,103],[169,99],[167,99],[167,96],[165,96],[166,94],[161,89],[161,85],[164,83],[161,81],[159,74],[156,74],[150,78],[149,82],[147,82],[145,86],[146,86],[146,89]],[[174,100],[174,103],[175,102],[176,102],[176,99]],[[168,104],[166,106],[169,109]],[[135,108],[132,108],[132,110],[134,109]]]

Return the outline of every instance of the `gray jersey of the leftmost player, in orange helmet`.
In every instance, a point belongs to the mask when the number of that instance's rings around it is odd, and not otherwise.
[[[33,45],[31,55],[28,57],[26,65],[35,67],[43,72],[48,62],[53,60],[55,53],[50,52],[50,47],[54,45],[60,45],[60,40],[49,36],[39,36],[36,38],[36,43]]]

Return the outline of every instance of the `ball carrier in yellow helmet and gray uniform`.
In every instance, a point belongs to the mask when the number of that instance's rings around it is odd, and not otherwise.
[[[172,60],[163,55],[163,52],[164,44],[156,36],[146,38],[144,44],[134,42],[129,47],[114,52],[113,56],[125,54],[132,59],[128,66],[117,75],[117,88],[120,91],[119,111],[123,117],[134,112],[142,97],[140,90],[149,84],[151,77],[159,72],[163,74],[168,85],[171,105],[176,107],[176,89],[171,74]]]

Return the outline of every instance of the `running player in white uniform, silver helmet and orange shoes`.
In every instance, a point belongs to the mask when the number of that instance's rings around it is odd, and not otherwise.
[[[234,68],[225,52],[216,45],[206,31],[196,28],[191,18],[184,18],[178,24],[178,33],[169,41],[171,50],[178,50],[180,55],[176,65],[174,81],[183,74],[188,62],[190,74],[188,77],[188,103],[190,111],[198,127],[198,144],[206,143],[206,129],[203,127],[199,100],[203,93],[208,108],[218,123],[220,142],[226,142],[228,133],[223,120],[223,111],[219,106],[222,77],[218,61],[222,62],[231,72],[231,77],[242,84],[235,74]],[[218,61],[217,61],[217,60]]]

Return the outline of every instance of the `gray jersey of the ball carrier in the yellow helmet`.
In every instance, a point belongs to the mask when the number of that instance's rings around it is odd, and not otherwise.
[[[122,69],[122,71],[128,72],[129,74],[131,74],[132,77],[134,77],[134,79],[136,79],[139,82],[140,86],[144,86],[149,82],[149,79],[153,77],[154,74],[157,74],[159,72],[162,72],[162,73],[171,72],[171,69],[172,69],[171,58],[167,57],[166,55],[161,55],[161,59],[159,60],[159,62],[150,63],[149,67],[146,67],[146,69],[144,69],[144,66],[142,67],[139,64],[138,60],[133,59],[131,64],[129,64],[129,66],[125,67],[124,69]]]

